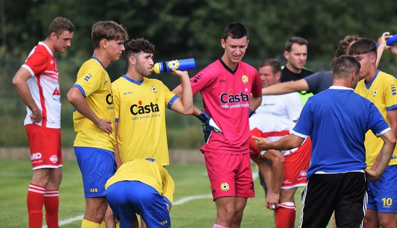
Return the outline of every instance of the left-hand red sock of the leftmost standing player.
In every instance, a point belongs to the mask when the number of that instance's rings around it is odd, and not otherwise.
[[[37,184],[29,184],[27,206],[29,228],[41,228],[43,225],[44,191],[46,188]]]

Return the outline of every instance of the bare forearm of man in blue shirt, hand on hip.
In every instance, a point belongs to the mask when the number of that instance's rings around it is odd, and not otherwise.
[[[383,147],[379,155],[377,165],[373,165],[371,169],[364,169],[370,181],[378,180],[386,167],[389,165],[394,148],[396,147],[396,136],[393,131],[388,131],[380,136],[383,140]]]

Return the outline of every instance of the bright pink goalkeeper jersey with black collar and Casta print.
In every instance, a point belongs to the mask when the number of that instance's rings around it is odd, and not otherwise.
[[[255,68],[240,62],[233,72],[221,59],[190,79],[193,94],[201,93],[205,112],[222,130],[212,131],[200,150],[220,153],[250,152],[248,109],[251,94],[262,96],[261,78]]]

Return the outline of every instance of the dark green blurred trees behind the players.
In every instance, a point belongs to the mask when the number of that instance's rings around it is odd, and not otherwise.
[[[71,47],[57,55],[63,102],[63,145],[72,146],[71,106],[66,92],[80,65],[92,55],[91,27],[99,20],[122,24],[130,38],[144,37],[155,47],[155,62],[195,58],[197,69],[221,57],[224,27],[242,22],[249,30],[244,61],[258,67],[265,58],[282,63],[285,42],[292,36],[309,41],[307,67],[331,69],[338,41],[348,34],[377,40],[385,31],[397,34],[396,0],[0,0],[0,146],[26,146],[26,115],[11,80],[51,21],[65,16],[74,26]],[[397,75],[397,60],[385,53],[380,68]],[[112,63],[112,80],[126,72],[124,60]],[[178,80],[153,76],[173,89]],[[195,105],[202,106],[199,96]],[[199,121],[167,112],[170,147],[198,148],[203,140]]]

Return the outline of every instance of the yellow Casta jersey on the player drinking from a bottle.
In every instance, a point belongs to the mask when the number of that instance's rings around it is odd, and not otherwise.
[[[123,75],[112,83],[122,163],[152,157],[168,165],[165,108],[178,98],[160,80],[137,82]]]

